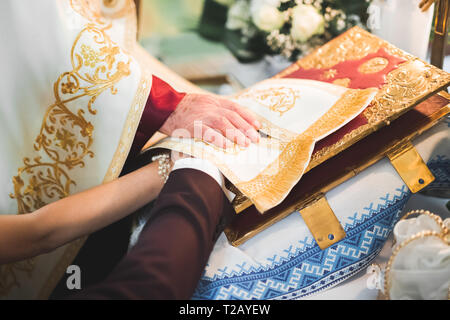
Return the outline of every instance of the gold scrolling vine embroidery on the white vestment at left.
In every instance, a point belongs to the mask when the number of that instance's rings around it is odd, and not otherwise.
[[[69,172],[83,168],[91,150],[95,116],[94,102],[130,74],[130,58],[121,51],[105,29],[88,24],[76,37],[71,50],[72,71],[64,72],[54,84],[55,102],[48,107],[34,149],[40,155],[24,158],[24,166],[13,177],[18,213],[28,213],[45,204],[64,198],[76,182]],[[86,101],[86,109],[71,110],[75,100]],[[31,274],[33,261],[0,266],[0,295],[17,285],[17,272]]]

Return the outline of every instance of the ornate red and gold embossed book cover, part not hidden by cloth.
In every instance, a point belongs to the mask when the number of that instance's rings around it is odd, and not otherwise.
[[[356,90],[378,89],[358,116],[315,144],[305,173],[389,125],[450,83],[449,73],[359,27],[329,41],[274,78],[316,80]],[[295,99],[295,92],[285,91],[267,107],[286,108],[286,101]],[[234,191],[238,193],[234,200],[238,213],[252,205],[247,197]]]

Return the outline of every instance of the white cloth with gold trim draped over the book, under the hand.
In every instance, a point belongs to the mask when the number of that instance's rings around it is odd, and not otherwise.
[[[258,144],[223,150],[198,139],[170,137],[153,148],[208,159],[264,212],[301,179],[316,142],[358,116],[377,91],[314,80],[266,80],[231,97],[258,116],[263,134]]]

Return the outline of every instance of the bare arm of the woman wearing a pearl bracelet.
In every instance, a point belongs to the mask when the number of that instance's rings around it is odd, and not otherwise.
[[[136,211],[163,186],[152,163],[26,215],[0,216],[0,263],[51,251]]]

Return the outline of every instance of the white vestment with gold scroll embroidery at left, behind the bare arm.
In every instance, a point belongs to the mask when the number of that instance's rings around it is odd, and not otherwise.
[[[132,0],[0,2],[0,214],[115,179],[151,88]],[[0,298],[46,298],[84,239],[0,266]]]

